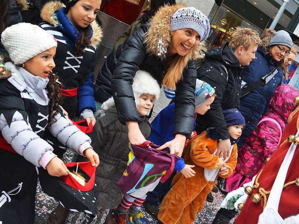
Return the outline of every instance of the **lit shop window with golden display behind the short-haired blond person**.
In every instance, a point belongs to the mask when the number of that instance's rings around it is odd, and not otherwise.
[[[222,5],[211,22],[211,31],[208,38],[209,48],[218,47],[225,42],[229,42],[231,33],[234,31],[235,27],[238,26],[256,30],[259,34],[263,32],[236,13],[232,12],[229,8]]]

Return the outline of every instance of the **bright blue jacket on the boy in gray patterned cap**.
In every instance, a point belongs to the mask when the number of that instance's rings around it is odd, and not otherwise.
[[[194,119],[194,128],[196,121]],[[156,145],[164,145],[174,139],[174,103],[168,105],[155,117],[151,123],[152,132],[149,136],[149,141]],[[193,130],[194,130],[193,128]],[[169,148],[167,148],[169,150]],[[185,167],[184,159],[180,158],[174,165],[174,168],[180,172]]]

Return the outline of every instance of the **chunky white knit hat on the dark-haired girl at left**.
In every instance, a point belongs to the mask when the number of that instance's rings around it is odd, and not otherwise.
[[[7,27],[1,34],[1,42],[16,65],[23,64],[45,50],[57,47],[54,36],[30,23],[18,23]]]

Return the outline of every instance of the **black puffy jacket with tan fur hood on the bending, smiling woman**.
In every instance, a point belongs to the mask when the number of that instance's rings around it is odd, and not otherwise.
[[[106,59],[99,76],[97,77],[97,88],[95,99],[99,102],[106,101],[110,96],[115,99],[119,119],[122,123],[126,121],[140,120],[136,110],[134,95],[132,91],[133,78],[137,70],[150,73],[160,84],[167,69],[165,57],[157,50],[159,44],[167,49],[170,44],[170,27],[159,26],[159,21],[167,18],[182,6],[164,7],[161,13],[156,13],[150,24],[144,24],[127,41],[117,47]],[[171,9],[171,10],[169,10]],[[161,17],[161,18],[160,18]],[[147,38],[145,36],[147,35]],[[147,44],[144,44],[144,41]],[[159,43],[158,43],[159,42]],[[187,55],[196,59],[202,49],[202,45],[196,47]],[[195,62],[190,60],[186,65],[182,79],[176,84],[175,98],[175,124],[173,135],[183,134],[187,138],[194,125],[194,91],[196,84]]]

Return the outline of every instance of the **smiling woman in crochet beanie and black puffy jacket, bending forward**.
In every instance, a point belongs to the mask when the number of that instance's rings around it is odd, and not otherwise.
[[[210,30],[208,18],[194,7],[182,4],[160,8],[149,24],[142,25],[127,41],[106,59],[99,80],[96,98],[101,102],[113,96],[119,119],[128,126],[129,140],[134,145],[145,142],[138,121],[132,91],[137,70],[149,72],[161,85],[176,89],[175,138],[160,149],[182,154],[186,138],[190,138],[194,118],[194,91],[197,59]],[[107,84],[108,83],[108,84]],[[99,94],[99,95],[98,95]]]

